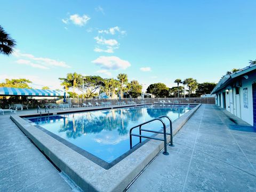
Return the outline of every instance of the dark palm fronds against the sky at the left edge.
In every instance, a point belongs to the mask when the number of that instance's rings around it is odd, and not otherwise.
[[[6,33],[2,26],[0,26],[0,53],[5,55],[12,54],[15,45],[15,40]]]

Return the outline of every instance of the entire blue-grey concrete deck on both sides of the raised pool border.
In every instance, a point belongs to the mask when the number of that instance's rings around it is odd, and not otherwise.
[[[0,115],[0,130],[1,189],[71,190],[10,114]],[[128,191],[255,191],[255,143],[251,126],[217,106],[202,105],[175,135],[170,155],[160,153]]]

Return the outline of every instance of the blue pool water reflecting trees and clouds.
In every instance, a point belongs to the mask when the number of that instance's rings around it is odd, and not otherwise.
[[[191,107],[193,106],[147,105],[56,115],[42,121],[37,117],[29,120],[110,163],[130,150],[129,130],[133,126],[162,115],[167,115],[174,121]],[[166,125],[169,124],[166,119],[164,121]],[[161,127],[160,122],[151,122],[143,128],[158,131]],[[134,129],[134,133],[138,133],[137,130]],[[139,138],[133,137],[132,141],[136,145]]]

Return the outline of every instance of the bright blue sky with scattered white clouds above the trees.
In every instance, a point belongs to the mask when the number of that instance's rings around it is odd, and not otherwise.
[[[2,1],[0,25],[17,41],[0,55],[0,81],[56,89],[69,72],[173,86],[218,82],[256,59],[256,1]],[[145,86],[146,89],[146,86]]]

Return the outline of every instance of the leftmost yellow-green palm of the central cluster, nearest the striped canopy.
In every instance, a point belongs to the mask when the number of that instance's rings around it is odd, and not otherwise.
[[[59,78],[62,83],[65,84],[67,88],[73,87],[73,95],[75,93],[75,89],[82,89],[82,75],[78,73],[68,73],[66,78]],[[64,83],[66,82],[66,83]]]

